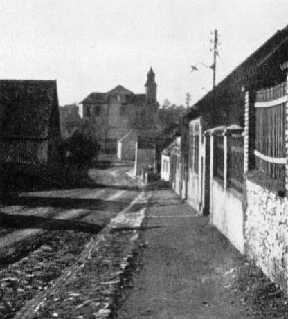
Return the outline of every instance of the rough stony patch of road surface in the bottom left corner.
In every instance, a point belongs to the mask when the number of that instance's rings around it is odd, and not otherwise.
[[[0,271],[0,318],[13,318],[27,300],[71,266],[91,240],[91,234],[73,231],[53,232],[49,237],[48,244]]]

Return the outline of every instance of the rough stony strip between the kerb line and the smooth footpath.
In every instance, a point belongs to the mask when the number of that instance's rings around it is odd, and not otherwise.
[[[148,197],[141,193],[112,219],[87,253],[57,280],[60,284],[55,282],[47,293],[39,294],[16,318],[107,318],[136,248]]]

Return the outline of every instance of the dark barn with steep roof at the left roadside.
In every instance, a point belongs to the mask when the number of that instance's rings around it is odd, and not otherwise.
[[[0,100],[0,160],[57,160],[61,131],[56,82],[0,80]]]

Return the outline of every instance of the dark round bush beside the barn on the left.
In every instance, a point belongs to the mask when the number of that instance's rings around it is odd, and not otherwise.
[[[100,153],[100,144],[79,131],[61,145],[62,157],[78,166],[90,165]]]

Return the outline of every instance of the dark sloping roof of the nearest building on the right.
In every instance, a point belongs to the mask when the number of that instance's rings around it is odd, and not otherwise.
[[[195,105],[205,105],[213,99],[219,102],[223,94],[237,94],[242,86],[269,85],[269,81],[280,76],[280,63],[288,60],[288,26],[278,30],[267,42],[264,42],[252,55],[246,58],[236,69],[224,78],[213,91],[208,92]],[[284,75],[284,74],[283,74]],[[191,110],[192,112],[192,110]]]

